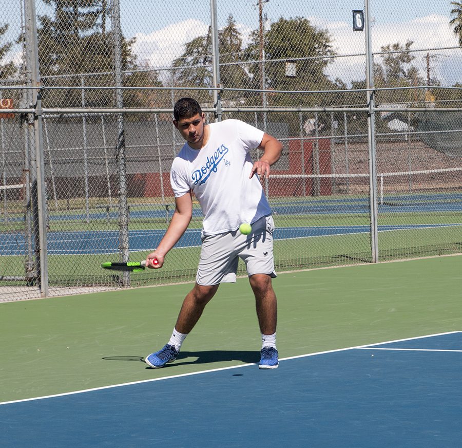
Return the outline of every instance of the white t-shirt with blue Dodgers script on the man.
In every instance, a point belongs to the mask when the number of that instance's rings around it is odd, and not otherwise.
[[[260,145],[263,131],[240,120],[210,123],[207,144],[200,150],[187,143],[170,171],[175,197],[189,190],[201,204],[204,235],[236,230],[271,215],[268,201],[255,174],[249,151]]]

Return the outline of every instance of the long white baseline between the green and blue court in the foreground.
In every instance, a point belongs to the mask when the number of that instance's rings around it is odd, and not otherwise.
[[[335,353],[335,352],[339,352],[339,351],[347,351],[347,350],[353,350],[353,349],[364,349],[364,348],[370,347],[372,345],[391,344],[393,342],[412,341],[414,339],[423,339],[423,338],[433,338],[433,337],[436,337],[436,336],[443,336],[445,334],[454,334],[454,333],[462,333],[462,331],[448,331],[448,332],[445,332],[445,333],[427,334],[425,336],[417,336],[417,337],[414,337],[414,338],[395,339],[393,341],[379,342],[379,343],[375,343],[375,344],[356,345],[356,346],[347,347],[347,348],[337,348],[335,350],[325,350],[325,351],[318,351],[316,353],[299,354],[297,356],[291,356],[291,357],[288,357],[288,358],[281,358],[279,361],[287,361],[287,360],[298,359],[298,358],[307,358],[307,357],[310,357],[310,356],[317,356],[318,354]],[[151,378],[149,380],[131,381],[129,383],[112,384],[110,386],[102,386],[102,387],[93,387],[91,389],[74,390],[72,392],[65,392],[63,394],[45,395],[43,397],[24,398],[22,400],[4,401],[4,402],[0,402],[0,406],[3,405],[3,404],[23,403],[25,401],[44,400],[46,398],[66,397],[67,395],[83,394],[85,392],[93,392],[93,391],[96,391],[96,390],[112,389],[112,388],[115,388],[115,387],[131,386],[131,385],[134,385],[134,384],[152,383],[154,381],[162,381],[162,380],[170,380],[170,379],[173,379],[173,378],[190,377],[192,375],[208,374],[210,372],[219,372],[221,370],[230,370],[230,369],[236,369],[236,368],[248,367],[248,366],[255,366],[255,365],[256,365],[255,363],[249,363],[249,364],[242,364],[242,365],[239,365],[239,366],[221,367],[221,368],[218,368],[218,369],[210,369],[210,370],[201,370],[201,371],[198,371],[198,372],[190,372],[188,374],[171,375],[171,376],[168,376],[168,377]]]

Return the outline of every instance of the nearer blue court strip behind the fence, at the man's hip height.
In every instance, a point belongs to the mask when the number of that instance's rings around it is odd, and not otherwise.
[[[448,224],[403,224],[378,226],[379,232],[395,230],[436,229],[462,226],[462,223]],[[313,226],[276,228],[273,237],[278,239],[310,238],[317,236],[347,235],[370,232],[370,226]],[[165,230],[131,230],[129,247],[131,252],[150,251],[159,245]],[[49,255],[60,254],[109,254],[119,251],[119,231],[75,231],[47,233],[47,252]],[[200,229],[188,229],[175,247],[199,247],[201,245]],[[25,254],[26,240],[23,233],[0,234],[1,255]]]

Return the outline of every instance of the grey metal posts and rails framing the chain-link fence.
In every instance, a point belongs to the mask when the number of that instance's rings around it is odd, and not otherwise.
[[[121,62],[121,40],[117,39],[117,36],[121,36],[120,28],[120,10],[119,10],[119,0],[112,1],[113,6],[113,27],[115,31],[116,39],[114,39],[114,73],[115,73],[115,85],[112,87],[94,87],[100,90],[107,89],[115,91],[115,107],[113,108],[93,108],[86,107],[85,105],[85,92],[91,90],[93,87],[85,85],[83,76],[81,86],[72,86],[69,89],[81,89],[82,91],[82,107],[69,107],[69,108],[43,108],[41,103],[41,97],[45,90],[52,89],[63,89],[63,87],[44,87],[41,83],[40,78],[40,67],[38,66],[38,46],[37,46],[37,26],[36,26],[36,13],[35,13],[35,0],[24,0],[24,12],[26,16],[25,28],[26,28],[26,42],[28,49],[28,58],[27,58],[27,85],[26,86],[8,86],[9,89],[21,89],[22,91],[27,92],[27,101],[24,102],[24,105],[27,104],[28,107],[17,107],[14,109],[2,110],[0,109],[0,114],[2,113],[14,113],[21,114],[24,117],[27,117],[25,120],[25,132],[33,134],[31,141],[34,142],[34,147],[30,148],[30,157],[31,160],[35,161],[35,173],[30,173],[30,178],[25,179],[25,183],[30,185],[27,188],[27,195],[31,197],[32,210],[30,211],[31,215],[28,219],[34,222],[32,226],[36,229],[34,233],[35,238],[35,262],[36,262],[36,272],[30,273],[31,277],[35,277],[38,281],[38,286],[40,288],[41,296],[47,297],[49,295],[48,291],[48,267],[47,267],[47,229],[46,229],[46,220],[47,220],[47,204],[46,204],[46,193],[45,193],[45,168],[44,168],[44,154],[45,154],[45,144],[44,144],[44,135],[45,140],[46,129],[44,132],[44,117],[53,115],[53,114],[79,114],[82,116],[83,126],[85,127],[85,114],[100,114],[102,119],[104,114],[117,114],[118,117],[118,143],[117,143],[117,152],[118,152],[118,161],[119,161],[119,224],[120,224],[120,258],[122,261],[128,261],[129,256],[129,246],[128,246],[128,203],[127,203],[127,185],[126,185],[126,162],[125,162],[125,139],[124,139],[124,116],[125,114],[137,114],[137,113],[172,113],[172,108],[156,108],[156,107],[147,107],[147,108],[127,108],[124,107],[122,92],[128,91],[131,89],[139,90],[187,90],[185,87],[124,87],[123,86],[123,72],[122,72],[122,62]],[[259,0],[260,14],[262,7],[262,0]],[[378,246],[378,225],[377,225],[377,206],[378,206],[378,186],[377,186],[377,170],[376,170],[376,125],[375,125],[375,116],[378,112],[383,111],[396,111],[396,108],[387,108],[387,107],[376,107],[375,105],[375,95],[380,90],[388,90],[388,88],[377,89],[374,86],[373,79],[373,53],[372,53],[372,41],[371,41],[371,11],[369,0],[364,0],[364,55],[366,61],[366,81],[367,86],[365,89],[358,89],[359,92],[365,92],[367,95],[367,104],[363,107],[307,107],[307,108],[275,108],[267,107],[266,102],[264,101],[265,94],[267,90],[257,89],[252,90],[253,92],[259,92],[263,95],[263,104],[262,107],[226,107],[223,105],[222,94],[225,91],[233,91],[235,89],[223,87],[220,81],[220,54],[218,50],[218,24],[217,24],[217,0],[210,0],[210,12],[211,12],[211,27],[212,27],[212,49],[213,49],[213,87],[194,87],[195,91],[204,89],[213,91],[213,101],[214,106],[211,108],[204,108],[204,111],[212,113],[216,121],[221,121],[222,115],[230,112],[249,112],[249,113],[260,113],[264,116],[264,130],[266,130],[266,113],[271,113],[275,111],[280,112],[310,112],[310,113],[347,113],[347,112],[358,112],[367,114],[368,116],[368,151],[369,151],[369,194],[370,194],[370,237],[371,237],[371,256],[372,262],[377,263],[379,261],[379,246]],[[260,20],[261,23],[261,20]],[[263,54],[264,58],[264,54]],[[264,87],[264,85],[262,86]],[[418,86],[412,88],[426,88],[428,86]],[[407,89],[409,87],[402,87],[402,89]],[[432,88],[445,88],[450,89],[451,87],[435,87]],[[64,88],[65,89],[65,88]],[[396,89],[396,87],[393,87]],[[242,89],[236,89],[242,90]],[[351,91],[351,90],[348,90]],[[307,91],[306,93],[316,93],[316,92],[325,92],[325,91]],[[336,91],[338,92],[338,91]],[[291,92],[284,91],[283,93],[290,95]],[[300,93],[300,91],[298,91]],[[433,111],[432,108],[427,107],[401,107],[399,109],[402,112],[426,112]],[[438,108],[442,111],[458,111],[459,108],[447,107],[447,108]],[[345,120],[345,126],[346,126]],[[175,137],[174,137],[175,139]],[[348,164],[348,160],[347,160]],[[347,165],[348,166],[348,165]],[[88,185],[87,185],[88,188]],[[88,194],[87,194],[88,200]],[[88,207],[87,207],[88,210]],[[124,274],[122,281],[122,287],[130,286],[130,277],[128,274]]]

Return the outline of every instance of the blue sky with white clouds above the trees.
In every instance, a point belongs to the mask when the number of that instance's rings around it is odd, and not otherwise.
[[[17,7],[14,7],[14,5]],[[413,49],[435,48],[431,55],[432,77],[445,85],[462,83],[462,49],[449,26],[451,0],[370,0],[373,51],[395,42],[414,41]],[[10,23],[9,34],[20,27],[21,0],[0,0],[0,26]],[[37,13],[50,13],[37,0]],[[353,32],[352,10],[364,9],[364,0],[263,0],[265,27],[285,18],[306,17],[319,29],[328,30],[334,50],[348,55],[364,53],[364,33]],[[13,6],[13,7],[12,7]],[[134,51],[149,66],[168,66],[184,49],[184,44],[204,35],[210,23],[210,0],[120,0],[122,30],[125,37],[136,37]],[[244,36],[258,27],[258,0],[217,0],[219,26],[232,14]],[[14,49],[8,58],[17,58]],[[415,53],[414,65],[426,71],[426,53]],[[326,69],[332,79],[344,82],[364,79],[364,58],[339,58]]]

